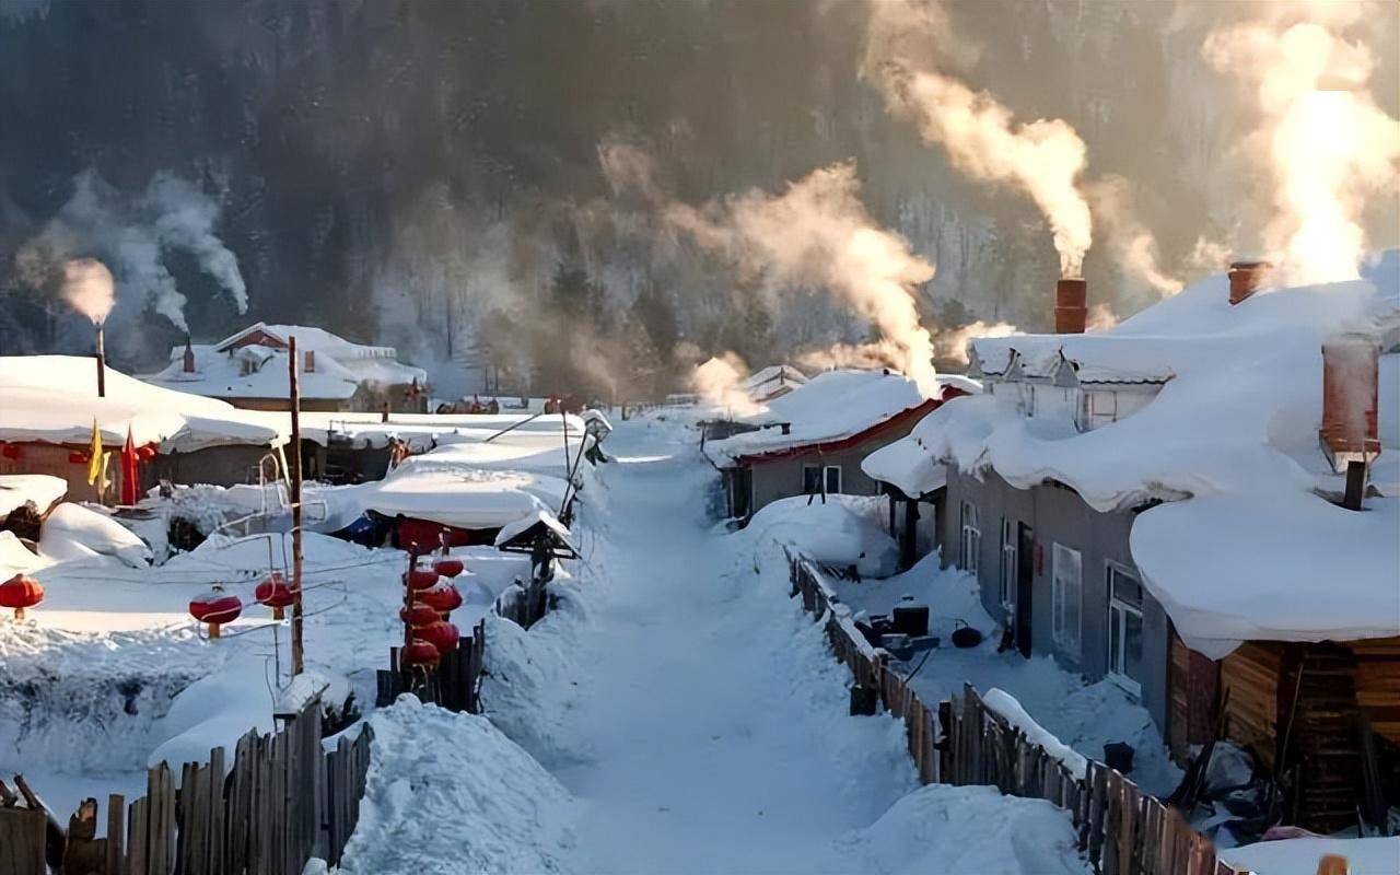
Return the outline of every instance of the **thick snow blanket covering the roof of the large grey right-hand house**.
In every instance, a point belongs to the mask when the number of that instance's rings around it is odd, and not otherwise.
[[[1236,307],[1214,276],[1092,335],[974,342],[983,368],[1015,349],[1042,374],[1065,358],[1112,374],[1172,374],[1140,412],[1078,433],[1028,419],[1004,396],[959,398],[920,426],[924,451],[1029,489],[1072,487],[1137,515],[1133,557],[1182,637],[1221,657],[1243,640],[1400,634],[1400,497],[1345,511],[1323,456],[1322,343],[1364,332],[1393,343],[1400,253],[1362,280],[1257,293]],[[1400,455],[1394,354],[1382,356],[1382,459]],[[1378,466],[1380,468],[1380,466]],[[1376,486],[1376,483],[1373,483]],[[1170,501],[1176,500],[1176,501]]]

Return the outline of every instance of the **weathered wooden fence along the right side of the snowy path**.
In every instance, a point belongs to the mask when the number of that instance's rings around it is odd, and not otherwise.
[[[991,711],[969,685],[962,696],[930,710],[904,678],[889,668],[855,629],[811,560],[788,554],[792,595],[818,622],[836,658],[855,683],[879,692],[885,707],[904,720],[909,753],[924,784],[995,785],[1016,797],[1047,799],[1070,812],[1079,850],[1100,875],[1239,875],[1217,858],[1211,840],[1119,771],[1089,762],[1085,776]],[[937,659],[934,654],[931,658]]]

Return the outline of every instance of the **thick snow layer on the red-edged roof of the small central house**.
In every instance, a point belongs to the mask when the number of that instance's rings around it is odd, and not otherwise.
[[[925,405],[911,379],[882,371],[826,371],[767,409],[739,421],[760,426],[732,437],[710,441],[711,458],[732,462],[851,438],[886,420]],[[783,424],[788,434],[783,434]]]

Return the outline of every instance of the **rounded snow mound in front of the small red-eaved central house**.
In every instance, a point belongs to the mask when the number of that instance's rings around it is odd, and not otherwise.
[[[757,545],[774,540],[813,561],[855,566],[861,577],[889,577],[899,567],[899,546],[872,518],[879,500],[827,496],[808,504],[806,496],[780,498],[749,521],[738,535]]]

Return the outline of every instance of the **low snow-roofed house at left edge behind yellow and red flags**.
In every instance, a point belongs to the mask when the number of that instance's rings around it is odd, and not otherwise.
[[[0,475],[59,477],[73,501],[102,498],[88,484],[94,423],[104,452],[112,454],[108,497],[122,494],[119,456],[127,435],[139,454],[140,490],[161,479],[246,483],[287,441],[286,423],[113,368],[106,368],[106,393],[98,398],[94,360],[78,356],[0,357]]]

